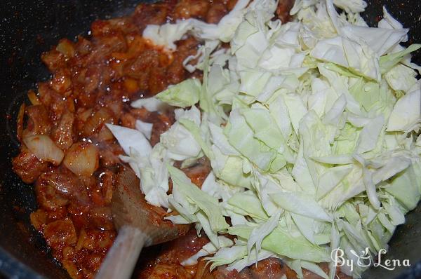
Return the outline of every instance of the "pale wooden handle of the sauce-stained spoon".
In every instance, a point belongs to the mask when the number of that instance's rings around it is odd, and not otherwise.
[[[96,279],[128,279],[138,261],[142,247],[149,241],[148,236],[133,226],[122,226],[119,235],[102,262]]]

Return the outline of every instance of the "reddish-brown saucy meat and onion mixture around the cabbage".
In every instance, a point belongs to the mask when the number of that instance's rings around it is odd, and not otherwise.
[[[142,38],[143,29],[183,18],[215,23],[235,1],[140,4],[127,17],[93,22],[88,38],[62,39],[42,55],[52,78],[29,90],[30,104],[20,107],[21,146],[13,170],[25,183],[34,184],[39,209],[31,222],[70,277],[93,278],[116,238],[110,203],[116,173],[125,166],[119,160],[123,150],[105,123],[128,128],[134,128],[137,119],[153,123],[154,145],[174,122],[173,112],[133,109],[130,102],[192,76],[201,79],[201,72],[189,74],[182,66],[187,56],[196,53],[199,41],[178,41],[177,50],[168,55]],[[289,19],[292,4],[280,1],[276,14],[283,22]],[[206,161],[185,170],[197,186],[209,171]],[[198,237],[194,230],[171,243],[146,248],[135,278],[296,277],[278,259],[265,259],[241,272],[224,267],[210,272],[203,260],[196,266],[180,264],[206,243],[208,238]]]

